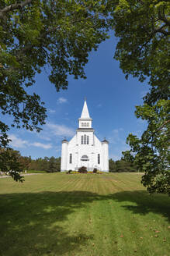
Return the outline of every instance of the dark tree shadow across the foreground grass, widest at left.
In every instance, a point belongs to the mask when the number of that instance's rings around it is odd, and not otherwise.
[[[78,208],[85,208],[92,201],[106,200],[126,202],[121,207],[141,215],[148,212],[167,218],[170,215],[168,197],[150,196],[144,190],[109,195],[86,191],[3,194],[0,196],[0,255],[81,254],[82,246],[93,240],[93,236],[80,232],[81,226],[71,233],[64,221],[69,219],[74,226],[71,214],[76,216]]]

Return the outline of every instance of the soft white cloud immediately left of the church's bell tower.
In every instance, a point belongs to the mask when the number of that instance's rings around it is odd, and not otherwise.
[[[55,136],[68,136],[72,137],[75,134],[75,130],[68,126],[54,124],[54,123],[47,123],[46,124],[46,131],[48,130],[48,134],[52,133]]]

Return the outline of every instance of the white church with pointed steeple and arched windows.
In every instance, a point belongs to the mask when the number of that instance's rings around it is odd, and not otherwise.
[[[61,172],[78,170],[82,166],[88,171],[96,168],[109,172],[109,142],[100,141],[94,132],[85,100],[75,136],[70,141],[62,140]]]

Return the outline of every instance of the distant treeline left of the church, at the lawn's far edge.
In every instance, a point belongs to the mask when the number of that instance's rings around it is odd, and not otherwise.
[[[0,158],[2,152],[5,150],[0,148]],[[61,171],[61,158],[48,158],[32,159],[30,156],[22,156],[19,151],[10,150],[10,155],[14,155],[23,171],[43,171],[43,172],[60,172]],[[1,161],[0,161],[1,163]],[[1,170],[1,166],[0,166]],[[2,170],[3,171],[3,170]]]

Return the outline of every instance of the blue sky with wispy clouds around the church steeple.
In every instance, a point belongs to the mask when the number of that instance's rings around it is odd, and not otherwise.
[[[40,94],[45,102],[47,123],[40,133],[12,128],[10,146],[32,158],[61,156],[61,140],[74,136],[86,97],[95,135],[100,140],[109,140],[109,158],[120,159],[121,152],[128,149],[127,135],[139,136],[146,127],[144,121],[134,116],[134,110],[135,105],[142,104],[148,86],[133,77],[125,79],[120,63],[113,59],[116,42],[111,37],[99,45],[97,52],[91,52],[85,67],[87,79],[70,77],[67,91],[57,93],[48,80],[47,68],[37,75],[36,84],[29,91]],[[10,123],[11,117],[2,120]]]

